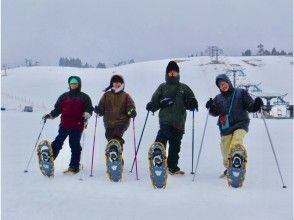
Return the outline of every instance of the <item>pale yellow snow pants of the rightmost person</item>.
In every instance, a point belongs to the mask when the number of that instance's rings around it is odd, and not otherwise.
[[[236,145],[242,145],[244,147],[243,140],[246,133],[247,132],[244,129],[237,129],[232,134],[221,137],[220,147],[225,168],[228,168],[229,165],[228,155],[230,153],[231,147]]]

